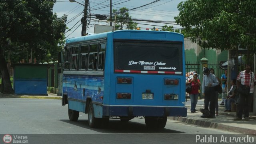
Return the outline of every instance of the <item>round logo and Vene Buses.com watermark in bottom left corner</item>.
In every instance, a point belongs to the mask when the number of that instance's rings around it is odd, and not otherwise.
[[[10,135],[6,134],[3,137],[3,141],[6,144],[27,144],[28,143],[28,136],[20,136],[18,134]]]

